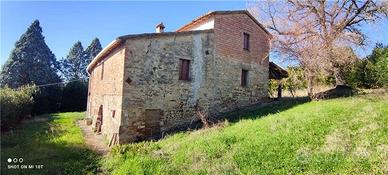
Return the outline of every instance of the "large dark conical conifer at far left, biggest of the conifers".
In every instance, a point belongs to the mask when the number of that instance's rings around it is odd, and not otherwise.
[[[0,86],[17,88],[56,83],[59,63],[44,41],[39,21],[35,20],[15,43],[15,48],[0,72]]]

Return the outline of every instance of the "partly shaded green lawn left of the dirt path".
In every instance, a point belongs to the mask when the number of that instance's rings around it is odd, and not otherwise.
[[[84,113],[45,116],[47,121],[23,123],[1,135],[1,174],[92,174],[99,157],[87,149],[75,121]],[[23,158],[23,165],[42,169],[8,169],[8,158]],[[19,164],[19,163],[17,163]]]

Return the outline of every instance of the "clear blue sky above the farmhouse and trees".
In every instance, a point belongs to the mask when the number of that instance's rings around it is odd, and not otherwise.
[[[57,59],[65,58],[71,46],[81,41],[86,48],[97,37],[105,47],[116,37],[127,34],[152,33],[163,22],[165,31],[175,31],[209,11],[241,10],[246,1],[0,1],[1,54],[0,65],[8,59],[15,42],[38,19],[45,41]],[[388,44],[388,20],[364,25],[369,46],[357,50],[364,57],[374,43]],[[275,62],[286,66],[279,60]]]

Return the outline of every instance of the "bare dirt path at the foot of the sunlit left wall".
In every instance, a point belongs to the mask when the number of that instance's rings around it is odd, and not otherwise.
[[[85,143],[90,149],[96,151],[98,154],[106,154],[109,152],[110,149],[108,145],[104,143],[103,135],[94,133],[92,128],[85,124],[84,120],[78,120],[77,125],[81,128]]]

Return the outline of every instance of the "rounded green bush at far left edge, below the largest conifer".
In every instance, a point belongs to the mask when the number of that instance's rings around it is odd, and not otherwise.
[[[36,86],[23,86],[16,90],[8,87],[0,89],[1,130],[15,127],[25,116],[31,114]]]

